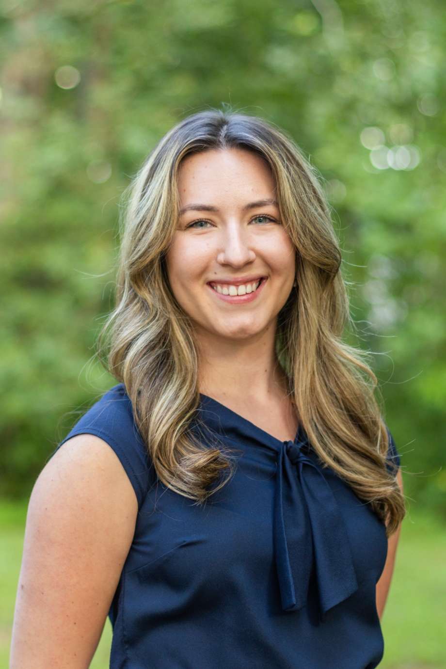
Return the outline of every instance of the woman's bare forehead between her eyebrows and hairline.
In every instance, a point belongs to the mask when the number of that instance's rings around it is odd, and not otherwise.
[[[269,165],[259,155],[245,149],[209,149],[187,156],[178,175],[182,205],[198,195],[209,198],[231,193],[233,197],[271,197],[275,181]],[[209,202],[212,204],[212,202]]]

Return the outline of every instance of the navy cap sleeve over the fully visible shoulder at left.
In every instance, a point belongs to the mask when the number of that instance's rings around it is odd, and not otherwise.
[[[146,446],[134,423],[132,403],[123,383],[104,393],[82,415],[47,461],[77,434],[94,434],[114,450],[134,488],[139,509],[154,482],[155,474]]]

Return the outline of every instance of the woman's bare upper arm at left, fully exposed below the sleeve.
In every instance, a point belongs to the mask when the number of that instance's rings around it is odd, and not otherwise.
[[[134,536],[138,502],[113,450],[80,434],[34,484],[10,669],[86,669]]]

